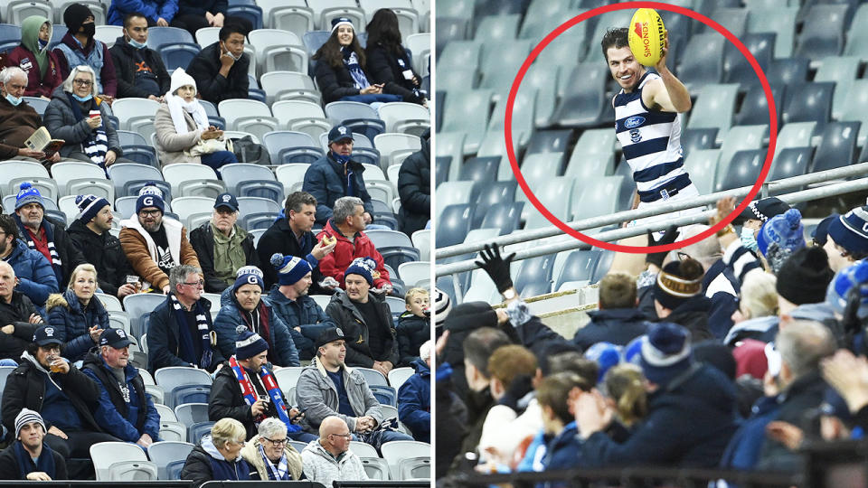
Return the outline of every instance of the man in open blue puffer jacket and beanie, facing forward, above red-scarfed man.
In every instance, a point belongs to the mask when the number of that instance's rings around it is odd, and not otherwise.
[[[258,333],[269,345],[268,361],[273,366],[300,366],[296,344],[287,324],[283,322],[268,300],[262,299],[265,284],[262,272],[242,274],[232,285],[228,303],[223,303],[214,317],[217,347],[224,357],[234,351],[234,338],[239,327]]]

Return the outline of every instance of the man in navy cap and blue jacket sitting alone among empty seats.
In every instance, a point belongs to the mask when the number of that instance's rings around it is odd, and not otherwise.
[[[371,195],[364,187],[364,166],[352,159],[353,130],[335,126],[328,131],[328,154],[307,168],[302,191],[316,199],[316,223],[326,225],[341,197],[362,199],[364,224],[373,221]]]

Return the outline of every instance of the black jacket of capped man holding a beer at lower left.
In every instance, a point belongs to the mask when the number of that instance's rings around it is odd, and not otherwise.
[[[28,352],[22,354],[21,364],[6,379],[3,401],[0,402],[0,416],[3,417],[3,425],[7,429],[15,431],[15,417],[22,408],[42,412],[46,376],[70,399],[86,430],[103,432],[93,417],[94,410],[99,406],[99,386],[96,381],[73,365],[70,365],[70,372],[66,374],[49,373]],[[44,421],[46,429],[52,428],[49,419],[45,418]]]

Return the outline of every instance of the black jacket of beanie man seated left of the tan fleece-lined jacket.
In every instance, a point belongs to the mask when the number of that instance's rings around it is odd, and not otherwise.
[[[75,246],[81,249],[84,260],[97,268],[99,289],[107,295],[118,296],[118,288],[125,285],[127,275],[133,273],[127,255],[120,247],[120,239],[108,230],[99,235],[78,219],[72,221],[66,231]]]

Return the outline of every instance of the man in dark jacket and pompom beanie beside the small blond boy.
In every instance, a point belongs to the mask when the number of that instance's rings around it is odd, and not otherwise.
[[[371,258],[355,258],[344,273],[346,293],[333,295],[325,313],[335,320],[349,341],[348,366],[373,368],[389,376],[398,363],[398,342],[389,305],[370,293],[374,266]]]

